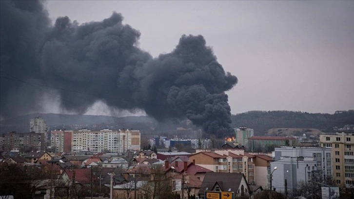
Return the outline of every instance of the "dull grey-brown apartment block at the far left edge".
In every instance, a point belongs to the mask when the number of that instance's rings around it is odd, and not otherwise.
[[[44,140],[44,134],[30,133],[3,133],[0,136],[1,149],[4,151],[11,151],[12,149],[19,149],[20,152],[26,151],[40,151]]]

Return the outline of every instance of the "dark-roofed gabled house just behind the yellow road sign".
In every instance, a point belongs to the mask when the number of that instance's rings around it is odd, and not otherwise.
[[[236,197],[249,196],[250,188],[246,178],[241,173],[214,173],[205,174],[199,189],[200,199],[204,199],[205,191],[234,192]]]

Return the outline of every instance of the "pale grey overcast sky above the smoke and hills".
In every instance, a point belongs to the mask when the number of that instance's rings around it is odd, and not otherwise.
[[[154,57],[183,34],[202,35],[225,71],[233,114],[354,109],[354,1],[55,1],[50,18],[79,23],[113,11]],[[93,114],[95,111],[89,111]]]

